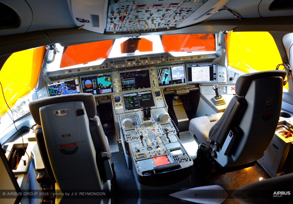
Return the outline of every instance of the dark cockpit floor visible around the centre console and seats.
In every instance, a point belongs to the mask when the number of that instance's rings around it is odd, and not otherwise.
[[[182,140],[182,143],[186,149],[188,149],[187,147],[188,145],[186,146],[186,144],[193,144],[193,137],[191,137],[187,133],[185,133],[185,135],[180,134],[180,140]],[[114,192],[115,194],[114,203],[130,203],[130,204],[137,203],[137,200],[139,198],[139,193],[137,191],[137,186],[134,180],[132,170],[129,170],[127,168],[127,164],[126,164],[121,143],[117,142],[117,145],[110,146],[110,149],[112,154],[112,161],[115,163],[114,167],[115,167],[115,172],[117,177],[117,189],[116,189],[116,193]],[[117,151],[117,149],[119,151]],[[188,150],[189,153],[192,151],[196,153],[195,150],[192,150],[192,149]],[[231,198],[231,193],[245,184],[259,181],[260,177],[263,177],[263,179],[269,178],[269,176],[267,176],[267,174],[263,171],[263,169],[259,167],[257,164],[255,164],[254,166],[248,167],[246,169],[241,169],[241,170],[229,172],[226,174],[215,175],[205,179],[199,176],[196,168],[193,168],[193,173],[191,175],[191,183],[188,188],[194,188],[199,186],[209,186],[209,185],[219,185],[222,188],[224,188],[225,191],[228,193],[228,198],[224,200],[223,204],[228,204],[228,203],[234,204],[239,202]],[[188,188],[185,188],[185,189],[188,189]],[[120,195],[119,191],[121,190],[124,193],[127,192],[127,196]],[[178,201],[180,203],[180,200],[176,200],[176,203]],[[191,203],[185,200],[184,201],[182,200],[182,202]]]

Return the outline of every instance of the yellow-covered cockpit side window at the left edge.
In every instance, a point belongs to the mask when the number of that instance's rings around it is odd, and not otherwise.
[[[10,108],[18,103],[18,99],[26,96],[35,88],[45,51],[45,47],[38,47],[15,52],[4,63],[0,70],[0,82]],[[0,116],[2,116],[9,109],[2,96],[2,90],[0,90],[0,94]],[[26,102],[24,101],[24,103]],[[22,109],[21,107],[16,107],[16,112],[13,110],[13,115],[16,116],[14,119],[18,118],[18,113]]]

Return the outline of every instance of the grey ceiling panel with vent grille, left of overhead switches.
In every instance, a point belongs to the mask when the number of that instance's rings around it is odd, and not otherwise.
[[[77,27],[96,33],[105,32],[108,1],[71,0],[71,11]]]

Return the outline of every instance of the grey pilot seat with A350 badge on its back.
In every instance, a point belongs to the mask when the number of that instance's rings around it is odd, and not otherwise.
[[[42,98],[29,103],[35,136],[50,180],[62,189],[110,191],[110,148],[92,94]]]

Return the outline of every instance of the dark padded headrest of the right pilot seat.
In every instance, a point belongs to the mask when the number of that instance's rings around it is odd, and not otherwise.
[[[254,79],[259,79],[264,77],[282,77],[284,80],[286,77],[286,72],[283,70],[271,70],[271,71],[243,74],[236,81],[236,85],[235,85],[236,94],[238,96],[245,96],[251,82]]]

